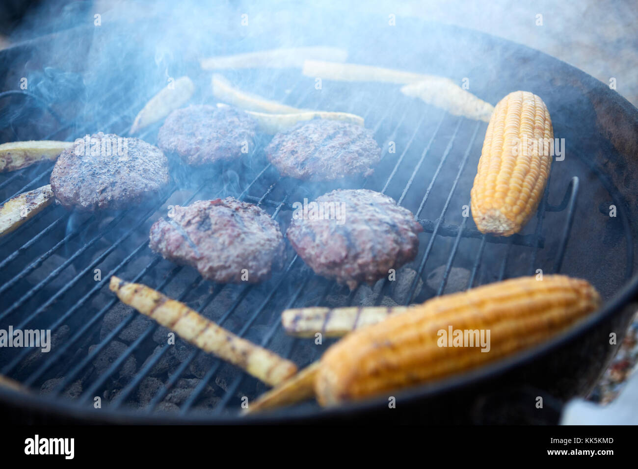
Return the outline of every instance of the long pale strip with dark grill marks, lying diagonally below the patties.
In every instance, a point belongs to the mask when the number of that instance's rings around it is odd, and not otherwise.
[[[110,289],[122,302],[172,329],[204,352],[239,366],[271,386],[297,373],[293,362],[226,331],[185,304],[152,288],[112,276]]]

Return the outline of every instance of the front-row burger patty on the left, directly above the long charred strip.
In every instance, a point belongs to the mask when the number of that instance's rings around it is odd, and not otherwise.
[[[253,204],[226,197],[175,205],[168,219],[151,227],[153,251],[191,265],[219,283],[257,283],[283,262],[279,225]]]

